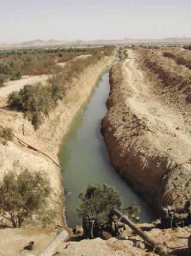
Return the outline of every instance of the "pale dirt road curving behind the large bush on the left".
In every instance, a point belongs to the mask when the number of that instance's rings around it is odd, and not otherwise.
[[[23,76],[20,80],[10,81],[0,88],[0,97],[7,97],[13,91],[19,91],[24,85],[32,85],[34,83],[44,83],[48,79],[47,75],[42,76]]]

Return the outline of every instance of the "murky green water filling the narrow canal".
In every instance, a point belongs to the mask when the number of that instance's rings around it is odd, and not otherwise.
[[[78,194],[89,183],[114,185],[124,198],[124,206],[134,201],[140,206],[140,221],[153,221],[149,207],[118,176],[110,164],[103,137],[100,134],[101,119],[106,115],[106,100],[109,95],[109,73],[103,74],[87,105],[78,113],[70,132],[61,146],[58,155],[63,168],[63,186],[71,192],[66,197],[66,219],[69,227],[81,224],[76,207]]]

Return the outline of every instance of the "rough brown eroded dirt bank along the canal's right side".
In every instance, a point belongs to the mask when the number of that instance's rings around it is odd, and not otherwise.
[[[182,206],[191,188],[191,71],[162,49],[128,53],[110,71],[101,126],[110,159],[148,203]]]

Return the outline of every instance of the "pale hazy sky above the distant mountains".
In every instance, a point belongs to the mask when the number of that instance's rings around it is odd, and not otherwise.
[[[0,0],[0,43],[191,37],[191,0]]]

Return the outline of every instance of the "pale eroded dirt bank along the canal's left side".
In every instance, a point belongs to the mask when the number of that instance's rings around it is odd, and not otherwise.
[[[60,101],[56,110],[45,120],[45,123],[34,131],[32,124],[23,118],[23,114],[7,109],[7,98],[0,97],[1,126],[13,128],[14,134],[29,144],[44,150],[56,161],[59,145],[66,135],[72,119],[90,97],[100,74],[114,61],[115,56],[104,57],[97,64],[90,65],[78,79],[73,79],[67,85],[66,97]],[[23,135],[24,125],[24,135]],[[17,139],[8,142],[7,145],[0,144],[0,179],[5,173],[14,171],[20,173],[29,171],[41,171],[50,180],[53,192],[50,201],[50,208],[56,210],[56,224],[63,225],[63,188],[61,186],[60,169],[47,156],[23,146]],[[47,209],[46,209],[47,210]],[[38,225],[38,219],[32,225]]]

